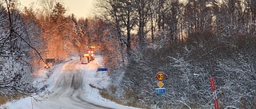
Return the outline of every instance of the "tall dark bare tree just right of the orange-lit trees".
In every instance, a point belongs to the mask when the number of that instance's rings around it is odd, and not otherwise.
[[[131,30],[136,24],[134,0],[107,0],[100,1],[98,6],[106,10],[105,18],[112,21],[116,29],[120,45],[126,45],[126,53],[131,50]]]

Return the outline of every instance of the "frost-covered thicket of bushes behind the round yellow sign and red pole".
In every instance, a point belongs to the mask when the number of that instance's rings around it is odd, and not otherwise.
[[[214,76],[220,107],[255,108],[254,38],[219,40],[213,33],[193,33],[186,42],[134,51],[120,85],[134,92],[130,99],[149,106],[213,108],[210,77]],[[163,95],[155,92],[155,75],[160,71],[166,74]]]

